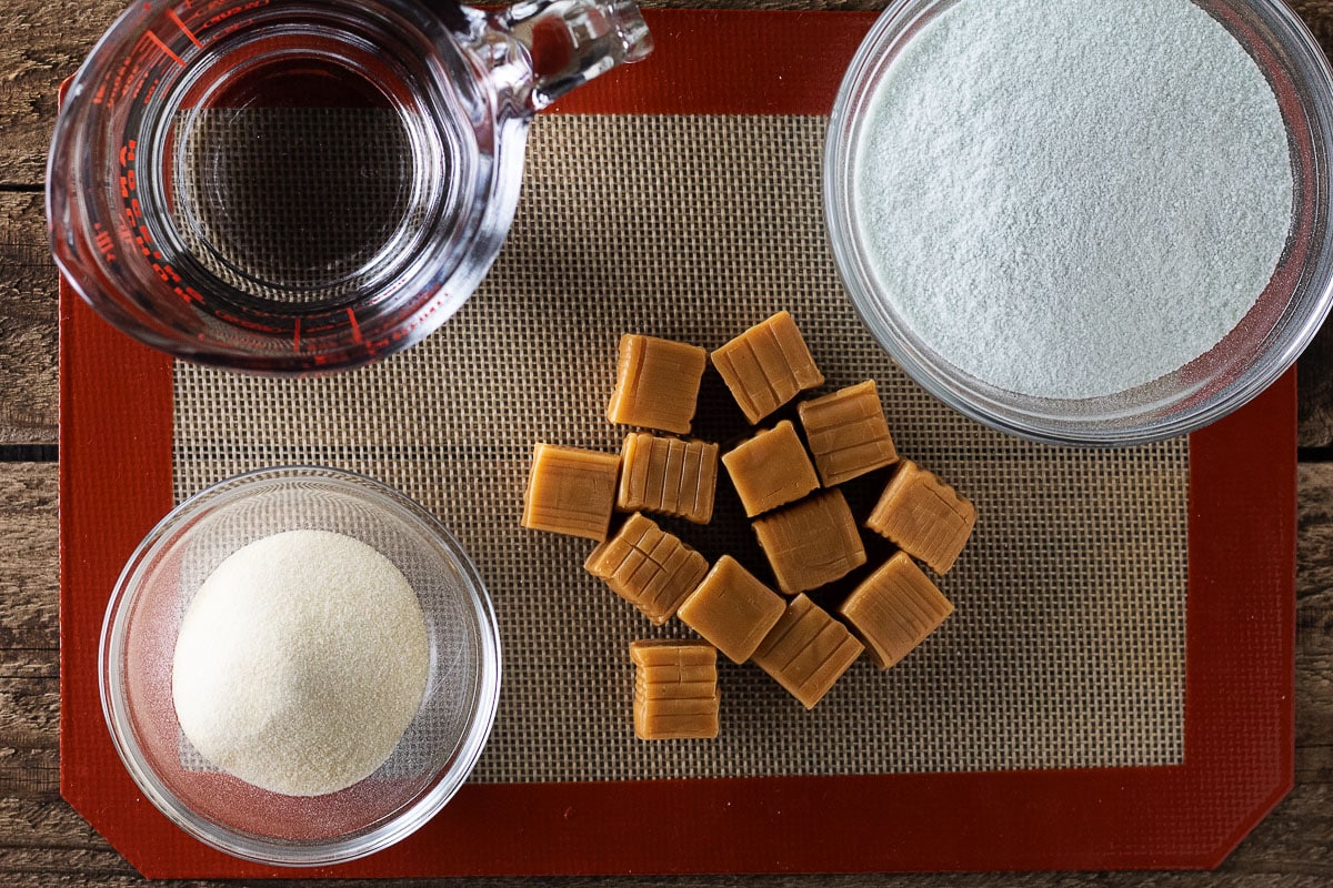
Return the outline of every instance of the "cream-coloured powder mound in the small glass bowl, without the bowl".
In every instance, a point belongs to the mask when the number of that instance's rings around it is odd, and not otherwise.
[[[217,566],[181,622],[172,699],[212,764],[271,792],[336,792],[379,768],[416,715],[431,648],[395,564],[320,530]]]

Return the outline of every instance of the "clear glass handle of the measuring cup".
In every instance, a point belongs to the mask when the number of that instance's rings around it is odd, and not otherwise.
[[[527,87],[516,97],[531,111],[653,51],[633,0],[527,0],[492,13],[489,24],[527,51],[532,79],[516,84]]]

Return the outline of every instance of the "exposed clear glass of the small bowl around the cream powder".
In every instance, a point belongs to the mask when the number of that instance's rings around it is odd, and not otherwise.
[[[344,534],[392,560],[420,599],[431,647],[425,694],[397,748],[360,783],[320,796],[269,792],[209,766],[172,704],[193,594],[236,550],[295,529]],[[99,682],[116,751],[176,825],[245,860],[324,865],[408,836],[463,785],[495,720],[500,639],[476,568],[424,509],[361,475],[268,469],[192,497],[140,543],[107,607]]]

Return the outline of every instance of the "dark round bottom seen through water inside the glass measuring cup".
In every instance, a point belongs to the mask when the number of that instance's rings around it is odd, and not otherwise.
[[[199,264],[241,293],[323,302],[411,237],[412,138],[359,73],[319,59],[247,71],[173,124],[173,210]]]

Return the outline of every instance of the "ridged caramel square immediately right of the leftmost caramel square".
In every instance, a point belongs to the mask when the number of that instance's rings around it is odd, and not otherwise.
[[[657,511],[696,525],[712,521],[717,445],[639,431],[625,435],[620,461],[616,509]]]

